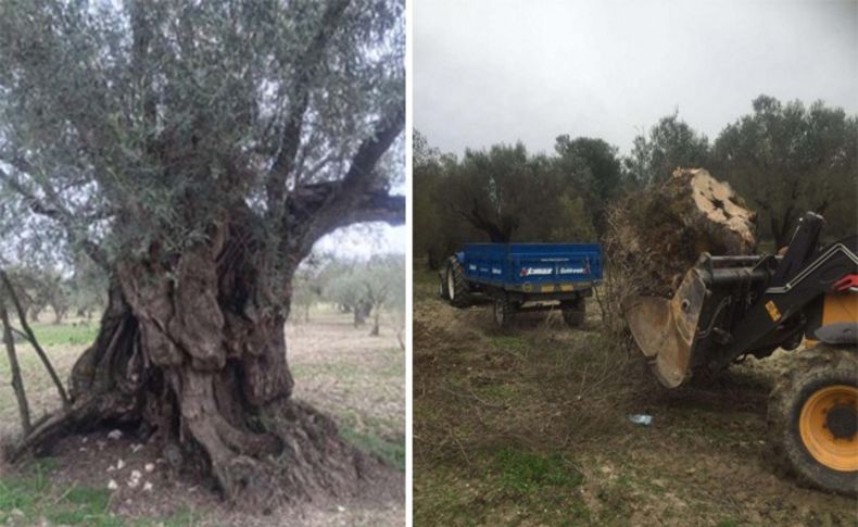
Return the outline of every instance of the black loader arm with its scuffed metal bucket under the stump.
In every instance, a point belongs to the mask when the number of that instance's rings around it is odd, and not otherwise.
[[[819,334],[821,300],[858,273],[858,236],[818,250],[823,219],[805,214],[783,256],[704,253],[672,299],[638,297],[623,305],[630,329],[658,379],[674,388],[702,366],[720,369],[745,354],[766,356],[809,338],[853,339],[855,319]]]

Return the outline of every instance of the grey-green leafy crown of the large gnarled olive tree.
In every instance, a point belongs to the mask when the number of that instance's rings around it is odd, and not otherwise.
[[[266,218],[286,198],[266,200],[268,185],[343,179],[401,111],[403,9],[0,3],[0,240],[171,263],[247,208],[276,244],[282,222]],[[370,167],[375,188],[401,180],[391,153]]]

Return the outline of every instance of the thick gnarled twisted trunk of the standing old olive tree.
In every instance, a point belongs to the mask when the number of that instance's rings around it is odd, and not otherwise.
[[[203,466],[243,505],[367,485],[378,462],[340,439],[329,417],[291,399],[289,291],[275,298],[247,234],[220,238],[169,265],[117,265],[98,338],[72,372],[73,405],[37,426],[13,457],[109,424],[165,451],[178,447],[185,466]]]

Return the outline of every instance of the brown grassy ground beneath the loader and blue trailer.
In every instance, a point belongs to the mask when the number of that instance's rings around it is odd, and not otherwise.
[[[784,352],[669,391],[602,341],[594,301],[583,330],[542,313],[499,331],[415,276],[415,525],[858,525],[771,459]]]

